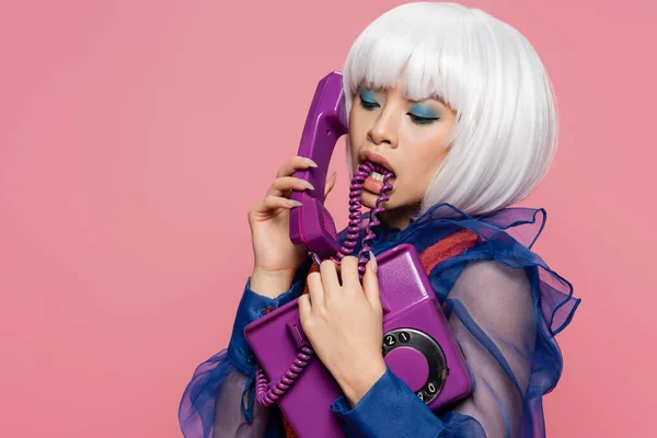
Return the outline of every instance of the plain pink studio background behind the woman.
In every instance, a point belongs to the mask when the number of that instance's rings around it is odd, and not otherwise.
[[[180,396],[227,345],[252,266],[249,207],[296,153],[316,81],[399,3],[0,5],[0,435],[181,436]],[[549,436],[641,436],[656,389],[656,8],[466,4],[529,37],[561,108],[556,161],[523,203],[548,209],[535,247],[584,299],[560,335]],[[344,226],[342,149],[333,166]]]

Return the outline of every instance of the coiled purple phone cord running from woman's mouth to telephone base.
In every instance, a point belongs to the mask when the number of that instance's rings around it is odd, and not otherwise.
[[[365,227],[366,235],[362,238],[362,246],[360,249],[360,253],[358,254],[358,276],[362,279],[365,275],[365,265],[369,261],[369,258],[364,255],[367,254],[370,250],[370,243],[376,238],[376,234],[371,231],[372,227],[380,224],[378,215],[385,209],[381,207],[381,203],[389,200],[390,198],[385,195],[392,188],[392,184],[389,183],[389,180],[394,176],[394,174],[388,169],[374,164],[371,161],[366,161],[365,163],[358,166],[358,172],[354,174],[351,178],[351,186],[349,187],[349,223],[347,227],[347,237],[345,239],[345,243],[341,247],[341,250],[331,257],[333,262],[339,265],[341,261],[354,253],[354,247],[358,241],[358,234],[360,231],[360,195],[362,194],[362,184],[365,180],[372,173],[378,172],[383,175],[383,187],[381,188],[381,194],[374,204],[374,208],[370,214],[370,221]],[[274,385],[274,388],[269,387],[269,382],[265,372],[256,367],[256,400],[260,404],[264,406],[268,406],[275,403],[288,388],[297,380],[301,371],[306,368],[306,366],[310,362],[312,355],[314,351],[308,345],[301,347],[301,350],[297,354],[297,358],[290,365],[290,368],[285,373],[283,378]]]

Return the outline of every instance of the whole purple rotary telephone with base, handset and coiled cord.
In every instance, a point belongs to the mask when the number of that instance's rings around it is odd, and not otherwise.
[[[371,227],[379,223],[380,204],[388,199],[387,184],[392,172],[370,162],[360,165],[351,181],[349,228],[342,249],[331,215],[324,208],[324,184],[331,154],[337,139],[347,132],[342,74],[332,72],[316,88],[306,120],[299,155],[312,158],[318,168],[299,171],[315,187],[292,192],[302,203],[290,211],[290,239],[304,244],[315,261],[339,263],[353,252],[360,230],[360,188],[376,171],[383,175],[383,188],[366,227],[359,268],[367,263]],[[379,288],[383,308],[382,354],[391,371],[403,380],[431,410],[470,394],[472,384],[465,359],[429,284],[415,249],[397,245],[377,256]],[[266,314],[245,328],[246,341],[257,358],[257,402],[278,403],[299,438],[344,436],[331,404],[342,392],[333,377],[313,357],[312,347],[299,321],[293,300]],[[274,383],[269,383],[274,382]]]

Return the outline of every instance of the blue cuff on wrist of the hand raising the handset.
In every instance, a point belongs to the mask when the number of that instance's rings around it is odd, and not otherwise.
[[[244,295],[238,307],[233,331],[228,344],[228,358],[247,377],[255,376],[255,356],[244,337],[244,328],[253,321],[263,316],[267,308],[278,309],[303,292],[306,279],[295,277],[292,286],[277,298],[268,298],[251,290],[251,278],[246,280]]]

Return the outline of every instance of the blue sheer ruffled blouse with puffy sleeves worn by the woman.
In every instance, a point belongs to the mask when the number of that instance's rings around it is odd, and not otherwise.
[[[431,412],[388,369],[354,408],[342,396],[333,403],[345,436],[545,436],[542,396],[555,388],[563,365],[554,336],[568,325],[580,300],[531,251],[544,224],[543,209],[506,208],[474,218],[440,204],[404,230],[374,230],[374,254],[400,243],[422,253],[458,231],[476,233],[473,247],[429,273],[474,389],[449,410]],[[266,308],[299,297],[310,264],[300,266],[291,288],[276,299],[255,293],[246,281],[228,348],[200,364],[184,391],[178,420],[186,438],[285,437],[278,408],[254,403],[255,357],[244,327]]]

